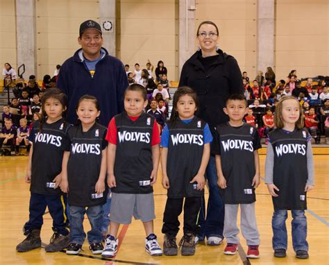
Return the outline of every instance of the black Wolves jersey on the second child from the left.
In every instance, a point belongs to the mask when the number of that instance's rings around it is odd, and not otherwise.
[[[87,207],[106,203],[108,185],[100,198],[95,195],[95,185],[101,171],[102,151],[108,146],[105,140],[107,130],[99,123],[95,123],[87,132],[83,132],[81,125],[68,130],[71,143],[67,162],[69,205]]]

